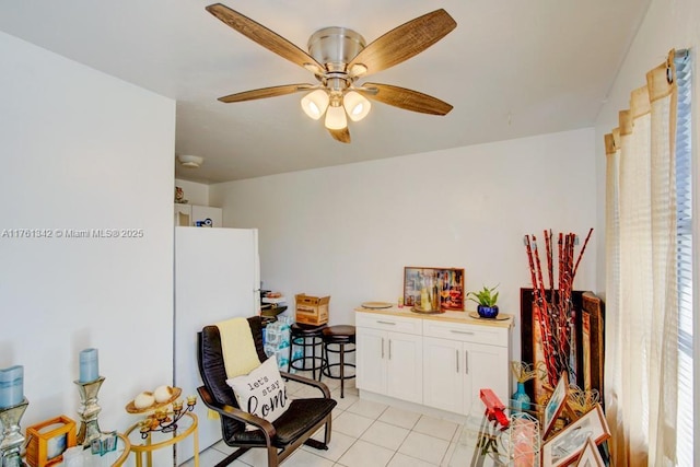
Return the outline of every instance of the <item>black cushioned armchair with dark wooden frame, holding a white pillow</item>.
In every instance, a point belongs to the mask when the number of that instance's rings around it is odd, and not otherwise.
[[[259,316],[248,318],[250,332],[260,362],[267,360],[262,350],[262,328]],[[252,447],[267,450],[268,467],[276,467],[302,444],[317,450],[327,450],[330,442],[331,411],[336,401],[330,398],[328,387],[303,376],[280,372],[288,381],[295,381],[318,388],[323,397],[293,399],[287,411],[273,422],[241,410],[233,389],[226,384],[226,371],[221,350],[221,336],[217,326],[206,326],[198,332],[199,373],[203,382],[197,392],[205,405],[221,416],[224,443],[238,447],[215,467],[231,464]],[[257,430],[246,430],[246,423]],[[326,425],[324,442],[311,436]]]

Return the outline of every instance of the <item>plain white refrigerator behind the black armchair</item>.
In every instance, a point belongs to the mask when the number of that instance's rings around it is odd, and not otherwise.
[[[175,227],[174,385],[183,398],[201,386],[197,332],[207,325],[260,311],[257,229]],[[197,400],[200,451],[221,440],[219,420]],[[194,455],[191,441],[176,445],[176,465]]]

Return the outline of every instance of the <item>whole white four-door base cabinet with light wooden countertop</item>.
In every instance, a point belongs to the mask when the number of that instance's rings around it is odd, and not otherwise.
[[[421,316],[406,308],[357,308],[360,394],[460,416],[481,404],[481,388],[509,404],[512,324],[512,318],[487,323],[459,312]]]

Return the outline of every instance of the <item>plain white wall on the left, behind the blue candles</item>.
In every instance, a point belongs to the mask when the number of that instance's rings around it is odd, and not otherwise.
[[[79,352],[96,347],[100,425],[125,431],[127,402],[172,383],[175,103],[3,33],[0,61],[0,367],[24,365],[22,427],[78,421]]]

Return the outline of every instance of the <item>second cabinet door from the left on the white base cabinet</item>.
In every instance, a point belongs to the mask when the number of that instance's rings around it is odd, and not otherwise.
[[[397,399],[423,401],[423,338],[401,332],[387,332],[386,393]]]

